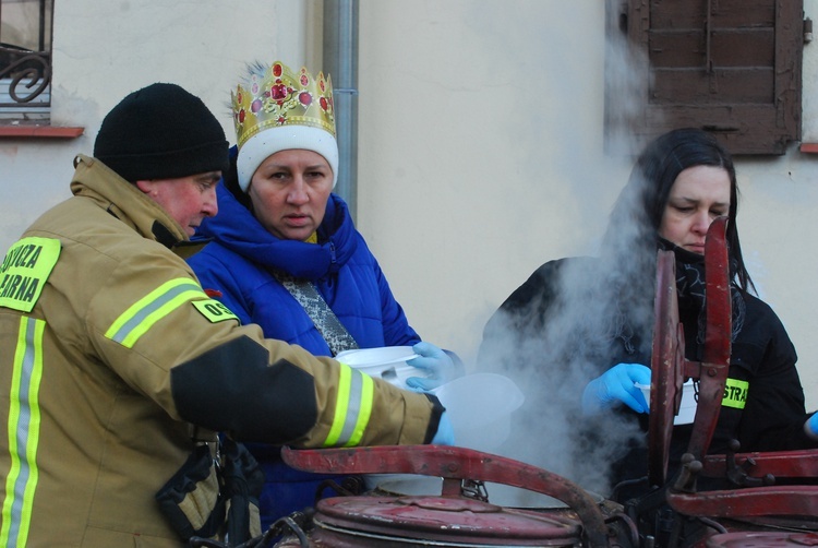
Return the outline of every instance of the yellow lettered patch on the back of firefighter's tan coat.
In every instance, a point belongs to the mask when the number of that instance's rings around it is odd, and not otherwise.
[[[55,238],[31,237],[14,243],[0,266],[0,307],[31,312],[61,249]]]

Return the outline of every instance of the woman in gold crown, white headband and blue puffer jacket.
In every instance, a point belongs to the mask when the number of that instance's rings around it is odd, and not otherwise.
[[[317,356],[413,346],[428,390],[452,374],[447,353],[409,325],[377,261],[333,193],[338,179],[332,81],[281,62],[255,64],[232,96],[238,146],[218,188],[219,213],[200,227],[213,241],[190,259],[205,289],[242,323]],[[288,468],[278,448],[249,445],[265,469],[262,525],[312,505],[327,476]]]

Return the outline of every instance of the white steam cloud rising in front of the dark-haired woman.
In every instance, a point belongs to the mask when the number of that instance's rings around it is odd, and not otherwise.
[[[610,33],[608,47],[608,93],[633,97],[635,103],[609,119],[608,130],[615,135],[609,152],[633,154],[637,146],[627,122],[641,108],[636,104],[641,98],[634,86],[643,80],[635,74],[647,64],[639,62],[637,52],[617,33]],[[630,198],[623,195],[621,200]],[[481,348],[478,365],[481,370],[512,378],[526,395],[524,406],[513,417],[509,440],[498,453],[560,474],[603,496],[612,487],[611,463],[629,448],[645,445],[638,427],[616,414],[579,414],[582,390],[599,376],[600,356],[610,354],[613,338],[633,336],[639,341],[637,350],[650,356],[653,288],[646,287],[645,281],[653,279],[654,255],[639,253],[641,247],[636,242],[645,241],[643,225],[636,209],[628,211],[635,214],[609,226],[599,258],[573,261],[563,269],[558,297],[544,325],[537,313],[531,318],[494,318],[494,333],[503,335]],[[623,322],[624,314],[628,323]],[[622,333],[626,325],[633,333]],[[578,436],[580,431],[585,433]]]

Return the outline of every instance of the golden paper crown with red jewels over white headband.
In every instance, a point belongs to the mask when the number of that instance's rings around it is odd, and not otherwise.
[[[260,131],[278,126],[310,126],[335,136],[333,81],[323,72],[312,78],[302,67],[293,74],[276,61],[269,69],[255,67],[248,87],[239,84],[231,94],[239,148]]]

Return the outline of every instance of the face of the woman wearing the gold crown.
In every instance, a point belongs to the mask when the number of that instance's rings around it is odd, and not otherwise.
[[[248,195],[253,213],[273,236],[306,240],[321,225],[333,191],[333,170],[313,151],[279,151],[253,174]]]

